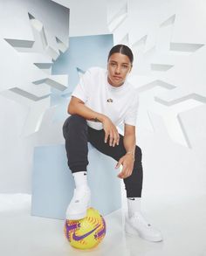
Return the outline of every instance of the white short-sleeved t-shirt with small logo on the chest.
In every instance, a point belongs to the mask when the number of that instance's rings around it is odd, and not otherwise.
[[[80,78],[72,96],[85,102],[86,107],[108,116],[113,124],[122,122],[135,126],[138,109],[138,95],[134,86],[127,80],[122,86],[111,86],[107,82],[107,70],[91,67]],[[88,126],[100,130],[101,122],[88,121]]]

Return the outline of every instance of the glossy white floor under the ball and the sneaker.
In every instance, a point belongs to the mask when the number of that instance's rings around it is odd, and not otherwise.
[[[30,195],[0,194],[0,255],[8,256],[205,256],[206,195],[148,197],[143,210],[164,236],[161,243],[128,237],[123,229],[125,210],[107,215],[106,237],[90,251],[72,248],[65,239],[64,221],[31,217]]]

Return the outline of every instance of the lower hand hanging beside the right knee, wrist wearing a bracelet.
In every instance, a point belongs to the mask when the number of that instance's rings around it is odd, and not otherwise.
[[[131,154],[126,154],[125,156],[122,156],[119,162],[116,164],[115,169],[118,169],[121,164],[123,168],[118,176],[120,178],[126,178],[127,176],[130,176],[134,168],[134,156]]]

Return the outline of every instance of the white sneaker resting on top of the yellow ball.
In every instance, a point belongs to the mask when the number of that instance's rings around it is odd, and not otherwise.
[[[86,210],[91,204],[91,192],[88,187],[74,189],[73,197],[68,205],[65,218],[66,219],[79,219],[86,217]]]

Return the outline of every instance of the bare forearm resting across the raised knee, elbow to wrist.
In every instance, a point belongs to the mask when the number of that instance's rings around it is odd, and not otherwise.
[[[86,107],[84,103],[70,104],[67,112],[69,114],[79,114],[89,121],[103,122],[106,119],[105,114],[93,111],[93,109]]]

